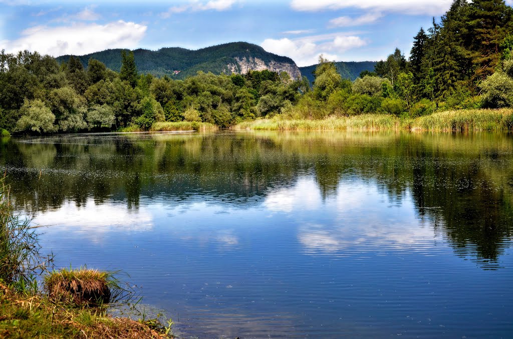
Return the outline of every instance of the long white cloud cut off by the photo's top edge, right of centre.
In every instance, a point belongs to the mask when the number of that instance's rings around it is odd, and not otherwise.
[[[452,0],[292,0],[290,6],[297,11],[360,8],[410,15],[440,15],[447,11],[451,4]]]

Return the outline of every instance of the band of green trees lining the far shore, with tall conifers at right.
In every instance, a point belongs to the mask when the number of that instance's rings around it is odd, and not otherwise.
[[[310,86],[306,76],[293,79],[266,70],[156,77],[137,71],[133,52],[121,54],[115,72],[94,58],[84,67],[74,56],[59,63],[37,52],[2,51],[0,129],[29,134],[148,130],[155,122],[183,120],[224,128],[276,115],[418,117],[513,105],[513,9],[504,0],[455,0],[413,37],[409,59],[396,49],[354,81],[322,55]]]

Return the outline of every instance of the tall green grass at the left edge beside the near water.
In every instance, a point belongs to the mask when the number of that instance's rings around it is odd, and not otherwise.
[[[44,257],[29,218],[16,215],[5,177],[0,179],[0,281],[17,289],[35,291],[36,276],[53,257]]]

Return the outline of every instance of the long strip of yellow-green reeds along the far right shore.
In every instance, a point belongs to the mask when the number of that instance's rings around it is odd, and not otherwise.
[[[513,130],[513,110],[459,110],[438,112],[418,118],[386,114],[330,116],[325,119],[272,119],[244,121],[238,130],[271,131],[510,131]]]

